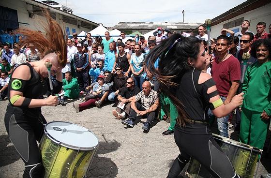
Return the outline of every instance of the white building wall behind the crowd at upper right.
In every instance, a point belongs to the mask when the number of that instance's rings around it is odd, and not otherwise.
[[[256,31],[257,23],[261,22],[261,21],[266,23],[265,31],[269,32],[269,25],[271,24],[271,3],[269,3],[265,6],[262,6],[260,8],[257,8],[255,10],[238,15],[238,16],[231,18],[229,20],[226,20],[220,24],[211,26],[211,38],[216,38],[219,35],[221,35],[220,30],[223,28],[224,24],[226,24],[227,22],[230,22],[232,20],[241,18],[241,17],[244,17],[244,20],[250,21],[249,30],[254,32],[254,34],[257,33],[257,31]],[[241,26],[230,28],[230,30],[237,29],[237,28],[239,28],[239,31],[241,30]]]

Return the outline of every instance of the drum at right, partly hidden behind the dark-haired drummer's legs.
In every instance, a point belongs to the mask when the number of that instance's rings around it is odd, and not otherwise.
[[[237,174],[241,176],[241,178],[252,178],[259,158],[258,156],[261,156],[262,150],[217,134],[213,134],[213,137],[229,158]],[[189,178],[212,177],[208,170],[193,158],[190,159],[190,163],[185,174]]]

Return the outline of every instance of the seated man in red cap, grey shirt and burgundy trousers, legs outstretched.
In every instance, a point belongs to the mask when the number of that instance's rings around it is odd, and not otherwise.
[[[90,94],[86,96],[86,100],[88,98],[86,102],[81,104],[73,102],[73,106],[75,107],[76,113],[84,109],[87,109],[91,105],[96,105],[97,107],[100,107],[104,103],[104,100],[108,96],[109,85],[105,83],[104,75],[99,75],[97,77],[97,80],[98,82],[93,86],[93,89],[90,92]]]

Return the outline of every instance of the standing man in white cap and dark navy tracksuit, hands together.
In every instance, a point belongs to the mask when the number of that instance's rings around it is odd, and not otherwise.
[[[76,45],[78,52],[74,55],[75,74],[78,80],[80,93],[86,91],[89,86],[89,76],[87,67],[89,65],[89,55],[83,52],[82,44]]]

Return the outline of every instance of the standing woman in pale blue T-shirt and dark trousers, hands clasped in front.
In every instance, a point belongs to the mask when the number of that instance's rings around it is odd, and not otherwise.
[[[132,75],[135,78],[135,85],[142,90],[142,84],[143,84],[143,60],[145,57],[145,54],[140,52],[141,51],[141,45],[135,44],[135,53],[132,54],[131,60],[130,60],[130,68],[132,71]]]

